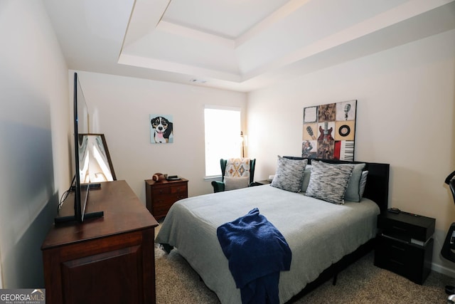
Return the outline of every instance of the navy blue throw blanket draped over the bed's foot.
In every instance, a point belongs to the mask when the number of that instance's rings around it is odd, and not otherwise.
[[[291,249],[278,229],[255,208],[219,226],[217,236],[242,303],[279,303],[279,272],[289,271]]]

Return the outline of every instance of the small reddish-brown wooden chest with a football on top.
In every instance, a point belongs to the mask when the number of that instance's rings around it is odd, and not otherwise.
[[[173,203],[188,197],[188,179],[145,180],[146,206],[155,219],[161,219],[168,214]]]

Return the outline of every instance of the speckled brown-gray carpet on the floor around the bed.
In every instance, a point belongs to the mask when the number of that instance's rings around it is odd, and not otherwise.
[[[156,303],[220,303],[176,249],[155,248]],[[324,283],[290,303],[446,303],[444,285],[455,279],[430,273],[424,285],[373,265],[373,253],[338,274],[335,286]]]

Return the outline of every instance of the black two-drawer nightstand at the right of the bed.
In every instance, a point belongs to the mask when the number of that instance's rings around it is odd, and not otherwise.
[[[436,219],[401,211],[378,216],[375,266],[423,284],[432,267]]]

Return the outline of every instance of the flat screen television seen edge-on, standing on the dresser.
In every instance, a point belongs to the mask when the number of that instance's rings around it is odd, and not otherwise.
[[[83,134],[89,132],[89,113],[85,103],[84,93],[80,86],[77,73],[74,73],[74,100],[73,100],[73,125],[74,125],[74,167],[75,177],[71,185],[74,190],[74,215],[60,216],[55,218],[55,224],[79,221],[84,219],[101,217],[103,211],[85,213],[90,192],[90,179],[88,179],[89,152],[87,149],[88,138]]]

